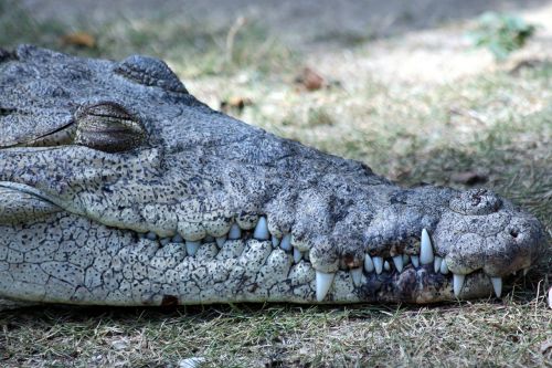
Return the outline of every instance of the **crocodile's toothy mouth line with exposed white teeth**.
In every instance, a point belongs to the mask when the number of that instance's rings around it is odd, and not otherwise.
[[[187,241],[180,234],[160,238],[155,232],[140,233],[139,236],[157,243],[159,248],[180,246],[185,256],[200,260],[225,259],[224,253],[236,250],[268,249],[267,259],[282,259],[283,263],[290,264],[286,277],[289,282],[299,285],[300,280],[310,280],[307,290],[315,291],[318,303],[368,301],[424,304],[490,296],[492,291],[497,297],[502,294],[502,277],[489,277],[481,270],[468,275],[453,274],[446,257],[434,254],[425,229],[421,235],[420,254],[384,257],[365,253],[363,265],[335,273],[317,271],[310,262],[309,251],[301,252],[291,244],[291,234],[283,238],[270,235],[265,217],[259,218],[254,229],[244,230],[233,223],[227,235],[205,236],[199,241]],[[311,303],[312,297],[294,302]]]

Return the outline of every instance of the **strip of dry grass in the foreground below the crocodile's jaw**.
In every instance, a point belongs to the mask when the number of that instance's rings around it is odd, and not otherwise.
[[[240,305],[47,308],[6,314],[4,367],[545,366],[550,312],[540,298],[437,307]]]

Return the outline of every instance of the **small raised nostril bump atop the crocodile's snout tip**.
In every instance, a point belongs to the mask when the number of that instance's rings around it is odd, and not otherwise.
[[[464,214],[489,214],[502,206],[500,198],[488,189],[470,189],[450,199],[453,211]]]

